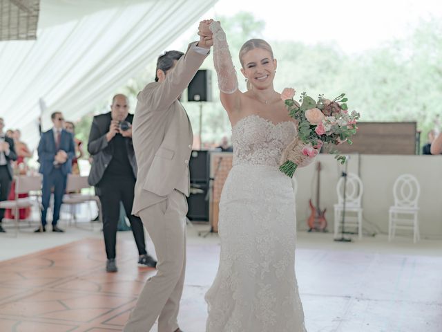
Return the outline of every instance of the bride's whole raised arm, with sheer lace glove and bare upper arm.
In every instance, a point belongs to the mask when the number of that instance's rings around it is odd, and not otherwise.
[[[241,91],[238,90],[238,77],[236,77],[226,34],[219,21],[212,21],[209,28],[213,34],[213,62],[218,75],[222,106],[229,113],[239,111]]]

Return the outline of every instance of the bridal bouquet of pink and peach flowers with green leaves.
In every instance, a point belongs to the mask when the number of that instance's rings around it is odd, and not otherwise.
[[[292,177],[304,156],[316,156],[323,145],[329,153],[336,154],[336,160],[345,163],[345,156],[341,156],[333,146],[353,143],[350,137],[356,134],[356,121],[361,116],[356,111],[349,113],[345,93],[334,100],[319,95],[318,101],[315,101],[304,92],[300,96],[300,104],[293,100],[294,95],[294,89],[288,88],[281,93],[289,115],[298,121],[298,137],[282,154],[281,172]]]

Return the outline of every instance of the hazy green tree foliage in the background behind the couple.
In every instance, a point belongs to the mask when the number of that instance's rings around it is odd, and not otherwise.
[[[238,53],[247,39],[262,37],[265,22],[249,12],[217,19],[222,22],[227,34],[240,90],[245,91]],[[194,40],[195,36],[189,35],[188,39]],[[360,112],[362,121],[417,121],[423,132],[423,142],[427,131],[434,127],[435,116],[442,111],[442,21],[438,19],[421,21],[407,37],[392,40],[362,54],[347,54],[338,46],[327,43],[307,45],[271,39],[268,42],[278,60],[277,91],[290,86],[296,89],[297,95],[307,91],[309,95],[324,93],[330,97],[345,92],[349,98],[349,109]],[[186,44],[182,50],[185,48]],[[155,61],[153,59],[146,65],[140,77],[130,80],[117,91],[129,96],[132,111],[135,111],[138,91],[153,81]],[[203,103],[202,107],[202,137],[205,142],[218,141],[224,135],[229,136],[231,128],[219,102],[211,56],[202,68],[212,71],[213,81],[213,102]],[[109,100],[111,98],[109,96]],[[200,104],[186,102],[186,93],[182,101],[193,131],[198,134]],[[104,110],[104,105],[97,109]],[[79,138],[86,141],[89,122],[82,120],[77,130]]]

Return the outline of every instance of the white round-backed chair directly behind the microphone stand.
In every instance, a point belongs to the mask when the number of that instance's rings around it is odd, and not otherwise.
[[[358,228],[358,237],[362,239],[362,212],[361,206],[362,194],[364,191],[361,178],[354,173],[347,174],[347,184],[345,185],[345,227],[356,226]],[[334,205],[334,237],[338,236],[339,227],[342,226],[344,209],[344,178],[341,177],[336,185],[338,193],[338,203]]]

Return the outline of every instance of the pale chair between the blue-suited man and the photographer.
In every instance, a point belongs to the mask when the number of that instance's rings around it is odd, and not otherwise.
[[[101,223],[103,222],[102,204],[99,201],[99,197],[93,194],[81,194],[81,190],[86,188],[90,188],[88,176],[68,174],[68,182],[66,183],[66,192],[68,194],[63,196],[63,204],[70,205],[70,221],[74,220],[75,225],[77,225],[75,207],[90,201],[97,203],[98,218]],[[90,205],[88,205],[88,208],[90,209]]]

